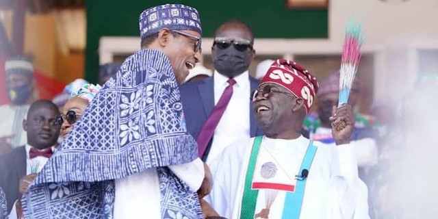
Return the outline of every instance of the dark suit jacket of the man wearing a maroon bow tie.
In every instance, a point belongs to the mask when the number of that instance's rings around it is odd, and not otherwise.
[[[18,198],[18,182],[26,175],[26,149],[20,146],[0,156],[0,185],[8,201],[8,212]]]

